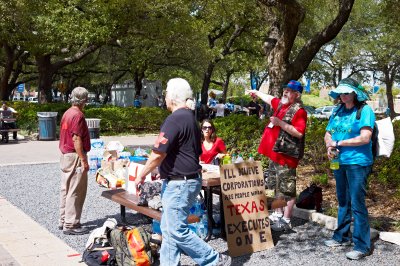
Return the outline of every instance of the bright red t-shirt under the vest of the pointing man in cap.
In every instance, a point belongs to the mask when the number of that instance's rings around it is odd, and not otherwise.
[[[274,98],[271,101],[271,106],[274,110],[278,109],[280,99],[279,98]],[[281,109],[279,110],[279,113],[276,114],[274,113],[274,116],[278,117],[279,119],[282,119],[287,110],[289,109],[290,104],[284,104],[282,105]],[[275,111],[276,112],[276,111]],[[269,124],[269,123],[268,123]],[[299,159],[296,159],[294,157],[282,154],[282,153],[277,153],[272,150],[272,148],[275,145],[275,142],[279,136],[279,132],[281,130],[280,127],[274,126],[273,128],[270,128],[267,126],[264,129],[263,136],[261,137],[261,142],[260,146],[258,147],[258,152],[260,154],[263,154],[270,158],[272,161],[280,164],[280,165],[287,165],[291,168],[296,168],[297,165],[299,164]],[[301,108],[299,109],[295,115],[293,116],[292,119],[292,126],[300,132],[301,134],[305,134],[306,131],[306,125],[307,125],[307,112]]]

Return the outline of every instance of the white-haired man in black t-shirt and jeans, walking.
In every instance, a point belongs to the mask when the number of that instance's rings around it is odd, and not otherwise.
[[[181,253],[198,265],[230,265],[231,258],[219,254],[189,230],[187,217],[201,189],[200,128],[193,115],[193,92],[181,78],[168,81],[165,101],[172,112],[163,125],[143,171],[135,180],[138,189],[145,176],[160,165],[163,179],[160,265],[180,265]]]

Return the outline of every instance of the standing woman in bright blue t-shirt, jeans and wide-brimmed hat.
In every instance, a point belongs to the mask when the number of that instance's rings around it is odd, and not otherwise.
[[[329,119],[324,138],[330,159],[334,156],[333,151],[338,151],[339,169],[334,170],[333,174],[339,210],[338,227],[325,245],[347,246],[353,239],[354,250],[346,253],[346,257],[358,260],[371,252],[365,196],[373,163],[371,136],[375,114],[365,104],[369,99],[368,93],[352,78],[341,80],[338,87],[329,92],[329,96],[339,103]],[[357,119],[360,108],[361,116]],[[354,231],[351,236],[352,217]]]

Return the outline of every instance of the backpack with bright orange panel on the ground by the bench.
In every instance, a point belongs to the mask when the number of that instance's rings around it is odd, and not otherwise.
[[[117,227],[109,234],[118,266],[150,266],[154,262],[151,235],[141,227]]]

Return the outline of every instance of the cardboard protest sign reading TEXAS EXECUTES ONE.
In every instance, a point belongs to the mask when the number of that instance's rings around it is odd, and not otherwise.
[[[261,162],[222,165],[221,191],[229,254],[273,247]]]

